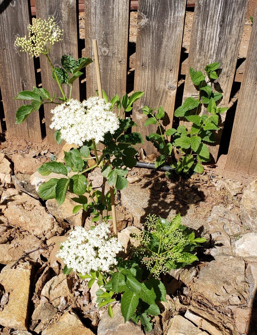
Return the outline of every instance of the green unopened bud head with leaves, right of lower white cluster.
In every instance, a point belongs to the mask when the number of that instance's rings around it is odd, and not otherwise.
[[[150,271],[150,275],[158,278],[171,269],[181,268],[197,261],[192,253],[199,243],[206,242],[204,238],[195,239],[195,233],[181,225],[180,214],[172,220],[166,220],[156,215],[146,217],[147,229],[133,237],[140,242],[134,249],[134,255],[141,259],[142,264]]]

